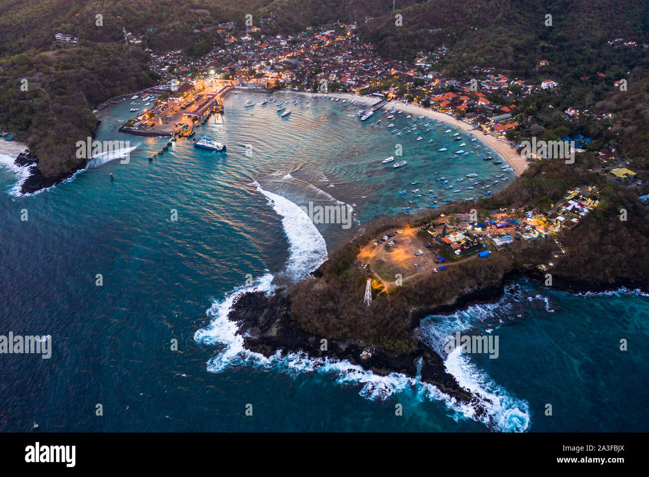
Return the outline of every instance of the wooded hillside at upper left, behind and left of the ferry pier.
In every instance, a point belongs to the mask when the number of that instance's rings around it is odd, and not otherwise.
[[[262,5],[219,3],[230,6],[207,0],[1,1],[0,129],[27,141],[45,177],[79,167],[75,143],[95,132],[92,106],[155,84],[145,47],[204,54],[217,36],[194,30],[234,19],[243,23],[243,9]],[[124,31],[143,42],[127,45]],[[57,32],[73,34],[79,43],[53,45]]]

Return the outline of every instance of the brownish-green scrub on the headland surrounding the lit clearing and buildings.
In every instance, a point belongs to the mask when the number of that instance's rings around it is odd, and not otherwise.
[[[598,186],[600,205],[580,225],[564,231],[559,239],[565,256],[553,258],[558,247],[552,238],[532,244],[515,243],[485,260],[459,262],[444,273],[430,274],[413,285],[392,289],[389,294],[376,288],[372,307],[361,306],[367,276],[355,262],[360,248],[379,232],[406,224],[419,226],[439,212],[459,212],[462,204],[445,210],[422,211],[410,216],[378,217],[361,229],[353,241],[330,254],[315,280],[304,280],[291,293],[291,316],[304,330],[337,339],[356,337],[367,343],[406,349],[413,345],[413,310],[452,306],[464,291],[476,286],[500,284],[511,273],[533,271],[536,265],[554,262],[551,269],[556,285],[582,283],[602,287],[649,283],[649,216],[631,191],[620,188],[604,175],[589,173],[588,156],[576,164],[544,160],[533,164],[516,182],[493,197],[482,199],[480,213],[500,207],[518,210],[548,210],[551,202],[578,185]],[[620,210],[628,220],[620,220]]]

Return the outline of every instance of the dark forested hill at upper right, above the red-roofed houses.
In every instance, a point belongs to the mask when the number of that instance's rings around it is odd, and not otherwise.
[[[649,3],[635,0],[430,0],[398,8],[401,27],[387,14],[360,25],[360,35],[391,58],[445,46],[444,66],[458,73],[473,66],[524,73],[550,58],[557,67],[596,73],[611,67],[610,40],[649,42]]]

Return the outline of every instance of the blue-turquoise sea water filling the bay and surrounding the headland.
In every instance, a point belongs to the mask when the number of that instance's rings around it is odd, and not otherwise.
[[[227,154],[181,139],[147,161],[165,140],[117,133],[126,101],[105,114],[99,139],[130,141],[127,164],[93,158],[71,180],[21,197],[16,171],[0,161],[0,334],[53,339],[49,360],[0,355],[0,430],[36,421],[44,432],[646,431],[649,299],[633,291],[569,295],[521,280],[495,304],[424,319],[422,339],[442,351],[457,331],[498,335],[498,359],[444,355],[487,417],[417,378],[243,349],[225,319],[239,293],[308,275],[359,223],[406,206],[412,194],[398,190],[479,197],[464,191],[468,180],[452,193],[435,178],[456,186],[475,172],[490,184],[500,173],[476,154],[437,151],[473,149],[469,136],[455,147],[447,127],[397,137],[387,114],[372,127],[341,101],[289,96],[293,113],[280,119],[273,103],[243,108],[267,96],[230,94],[225,115],[197,132]],[[405,116],[393,121],[404,132],[417,119]],[[398,145],[408,165],[381,164]],[[314,225],[299,208],[308,202],[349,205],[351,228]]]

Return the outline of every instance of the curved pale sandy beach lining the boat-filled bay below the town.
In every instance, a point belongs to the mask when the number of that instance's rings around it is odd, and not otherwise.
[[[324,93],[312,93],[313,97],[324,97]],[[367,96],[356,95],[352,93],[328,93],[329,97],[339,97],[340,99],[347,99],[347,101],[356,100],[361,103],[367,101],[367,104],[374,104],[378,102],[377,98],[371,98]],[[528,167],[528,162],[525,158],[521,157],[519,153],[516,152],[516,149],[509,143],[509,141],[501,140],[493,136],[492,134],[484,134],[482,130],[475,129],[472,125],[460,121],[448,114],[437,112],[430,108],[424,108],[417,104],[408,104],[403,101],[390,101],[389,106],[397,111],[408,112],[417,116],[426,116],[430,118],[437,119],[438,121],[444,121],[450,126],[456,126],[464,132],[473,133],[480,142],[484,143],[492,151],[495,151],[500,155],[509,166],[514,169],[516,175],[519,176],[523,173]]]

